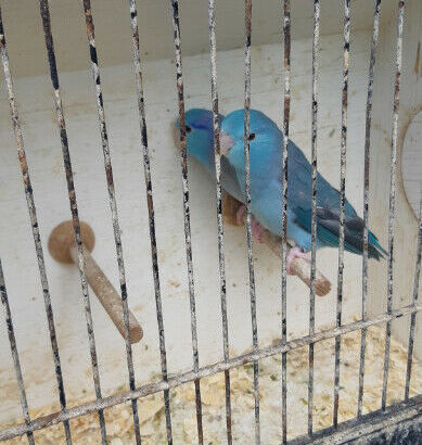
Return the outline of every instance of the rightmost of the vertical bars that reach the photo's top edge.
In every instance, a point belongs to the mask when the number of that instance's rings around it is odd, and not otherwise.
[[[394,289],[393,260],[394,260],[394,220],[395,220],[395,212],[396,212],[397,130],[398,130],[398,107],[399,107],[400,76],[401,76],[404,14],[405,14],[405,0],[399,0],[398,18],[397,18],[396,80],[395,80],[395,86],[394,86],[392,155],[391,155],[391,170],[389,170],[387,314],[391,314],[393,310],[393,289]],[[387,321],[386,329],[385,329],[384,378],[383,378],[383,390],[382,390],[382,399],[381,399],[381,407],[383,410],[386,407],[386,399],[387,399],[391,335],[392,335],[392,321]]]

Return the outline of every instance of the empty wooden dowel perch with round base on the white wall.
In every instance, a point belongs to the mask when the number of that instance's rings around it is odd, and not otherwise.
[[[125,338],[122,298],[90,254],[95,243],[93,231],[86,223],[80,223],[80,232],[82,238],[85,274],[88,283],[92,288],[105,312],[108,314],[108,317],[117,328],[118,332]],[[78,249],[75,242],[72,221],[60,224],[51,232],[49,251],[52,257],[60,263],[78,264]],[[130,310],[129,331],[130,343],[138,343],[143,336],[142,328]]]

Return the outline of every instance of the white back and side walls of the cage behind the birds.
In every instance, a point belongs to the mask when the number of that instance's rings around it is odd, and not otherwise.
[[[310,155],[312,2],[292,4],[291,138]],[[370,173],[370,227],[387,245],[389,153],[395,75],[397,2],[382,2],[376,53]],[[159,371],[154,289],[149,253],[146,202],[142,179],[139,117],[131,62],[130,16],[126,1],[92,1],[95,43],[102,74],[104,105],[114,167],[130,308],[140,319],[145,336],[133,345],[137,384]],[[220,112],[243,106],[244,9],[243,2],[217,5],[217,64]],[[5,1],[2,5],[11,69],[24,130],[28,165],[38,209],[41,239],[69,218],[60,138],[52,106],[46,48],[38,4]],[[165,2],[139,4],[140,42],[145,54],[144,91],[152,181],[154,186],[158,264],[169,372],[192,368],[189,292],[186,271],[180,163],[170,125],[177,116],[171,15]],[[180,4],[186,106],[210,106],[209,54],[206,2]],[[253,5],[252,106],[282,126],[282,8],[279,2]],[[346,194],[362,214],[365,104],[373,4],[351,2],[350,77],[347,137]],[[422,5],[406,3],[404,68],[400,88],[399,144],[411,117],[422,103],[419,56]],[[113,228],[104,180],[95,98],[87,52],[84,10],[79,2],[51,3],[52,31],[60,72],[69,149],[80,218],[94,229],[94,256],[117,288],[118,276]],[[321,52],[318,115],[318,166],[338,185],[343,8],[321,1]],[[0,125],[0,257],[10,294],[16,340],[30,406],[54,402],[56,395],[46,315],[34,241],[28,225],[15,142],[10,129],[7,92],[1,85]],[[200,365],[220,360],[218,252],[213,181],[197,165],[190,165],[192,247]],[[411,303],[417,221],[397,169],[395,225],[394,305]],[[77,398],[92,391],[86,322],[78,272],[56,264],[44,250],[66,392]],[[280,262],[256,245],[256,280],[259,344],[280,336]],[[330,278],[333,291],[317,298],[317,330],[335,323],[337,252],[318,252],[318,267]],[[371,315],[385,312],[387,263],[369,264],[368,304]],[[251,347],[247,263],[244,231],[226,228],[226,269],[230,347],[240,354]],[[361,258],[345,255],[344,322],[360,316]],[[295,278],[287,281],[289,338],[308,329],[308,289]],[[122,338],[91,295],[103,394],[127,382]],[[3,322],[3,320],[1,320]],[[396,320],[394,333],[408,341],[409,317]],[[421,331],[415,333],[415,354],[421,356]],[[1,385],[7,399],[1,418],[18,415],[15,377],[10,361],[5,329],[1,330]],[[82,371],[81,371],[82,370]]]

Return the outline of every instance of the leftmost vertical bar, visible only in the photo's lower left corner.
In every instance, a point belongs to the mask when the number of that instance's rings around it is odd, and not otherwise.
[[[0,36],[3,33],[2,33],[2,29],[1,29],[1,11],[0,11]],[[1,40],[1,37],[0,37],[0,40]],[[2,44],[2,43],[0,43],[0,44]],[[5,317],[5,325],[8,327],[10,351],[12,353],[13,366],[15,368],[16,380],[17,380],[17,386],[20,389],[22,415],[25,419],[25,423],[29,424],[30,423],[30,417],[29,417],[29,411],[28,411],[28,402],[26,399],[25,383],[24,383],[24,379],[22,377],[20,355],[18,355],[18,352],[17,352],[16,339],[15,339],[15,334],[14,334],[14,330],[13,330],[12,314],[10,312],[8,291],[5,289],[3,267],[1,265],[1,259],[0,259],[0,298],[1,298],[1,304],[3,305],[3,309],[4,309],[4,317]],[[26,433],[26,435],[28,437],[28,443],[30,445],[35,444],[33,432],[28,432],[28,433]]]

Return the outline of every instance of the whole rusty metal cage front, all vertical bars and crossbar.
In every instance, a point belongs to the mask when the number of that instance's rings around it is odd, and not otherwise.
[[[25,393],[25,384],[22,377],[16,340],[14,336],[14,328],[12,314],[8,301],[7,282],[0,260],[0,296],[1,303],[5,312],[8,335],[11,346],[11,353],[16,373],[16,380],[21,396],[21,407],[23,410],[24,423],[14,427],[9,427],[0,430],[0,442],[18,435],[26,434],[30,444],[34,442],[34,431],[51,427],[53,424],[63,423],[66,442],[72,444],[72,434],[69,429],[69,420],[90,412],[98,412],[102,443],[105,444],[106,430],[103,410],[115,405],[130,402],[133,412],[133,429],[137,443],[141,443],[141,432],[139,427],[137,399],[146,395],[161,393],[164,394],[164,406],[166,414],[166,432],[168,443],[172,443],[171,432],[171,415],[169,406],[169,391],[186,383],[194,383],[195,385],[195,404],[196,404],[196,423],[199,443],[202,444],[203,428],[202,428],[202,405],[201,405],[201,379],[216,373],[225,373],[226,384],[226,419],[227,419],[227,440],[232,443],[231,432],[231,398],[230,398],[230,370],[246,364],[254,365],[254,398],[255,398],[255,443],[260,443],[260,427],[259,427],[259,396],[258,396],[258,364],[259,360],[273,356],[282,355],[282,416],[281,428],[283,443],[287,443],[286,434],[286,354],[295,348],[309,347],[309,381],[308,381],[308,434],[289,441],[291,444],[305,443],[378,443],[381,437],[386,441],[393,441],[394,437],[421,437],[422,436],[422,395],[409,397],[409,385],[411,378],[411,367],[413,357],[414,331],[417,323],[417,314],[422,310],[422,305],[418,304],[418,288],[421,270],[421,252],[422,252],[422,199],[419,215],[419,232],[417,259],[414,268],[414,281],[412,303],[397,309],[393,309],[393,262],[394,262],[394,223],[395,223],[395,202],[396,202],[396,167],[397,167],[397,144],[398,144],[398,113],[399,113],[399,92],[400,92],[400,75],[401,75],[401,52],[402,52],[402,27],[405,0],[398,0],[398,16],[397,16],[397,41],[396,41],[396,76],[394,85],[394,109],[393,109],[393,128],[392,128],[392,151],[391,151],[391,182],[389,182],[389,212],[388,212],[388,282],[387,282],[387,310],[383,314],[368,318],[367,315],[367,279],[368,279],[368,198],[369,198],[369,162],[370,162],[370,127],[371,127],[371,110],[372,110],[372,89],[374,77],[374,63],[376,54],[376,42],[379,35],[380,7],[381,0],[374,0],[374,21],[373,35],[371,41],[371,55],[369,63],[369,84],[366,110],[366,140],[365,140],[365,187],[363,187],[363,257],[362,257],[362,313],[361,320],[342,323],[342,296],[343,296],[343,267],[344,267],[344,203],[345,203],[345,173],[346,173],[346,142],[347,142],[347,89],[348,89],[348,56],[349,56],[349,5],[350,0],[344,0],[344,65],[343,65],[343,89],[342,89],[342,135],[341,135],[341,211],[340,211],[340,244],[338,244],[338,269],[337,269],[337,306],[336,306],[336,327],[315,332],[315,277],[316,277],[316,230],[317,230],[317,118],[318,118],[318,72],[319,72],[319,17],[320,17],[320,0],[314,0],[314,39],[312,39],[312,131],[311,131],[311,167],[312,167],[312,224],[311,224],[311,279],[310,279],[310,295],[309,295],[309,333],[298,339],[291,341],[286,340],[286,196],[287,196],[287,140],[289,140],[289,119],[290,119],[290,0],[283,1],[283,33],[284,33],[284,115],[283,115],[283,157],[282,157],[282,274],[281,274],[281,341],[272,346],[258,347],[257,338],[257,320],[256,320],[256,294],[255,294],[255,278],[254,278],[254,257],[253,257],[253,238],[252,238],[252,213],[251,213],[251,178],[248,165],[248,135],[250,135],[250,109],[251,109],[251,17],[252,17],[252,0],[245,0],[245,89],[244,89],[244,140],[245,140],[245,171],[246,171],[246,233],[247,233],[247,259],[250,272],[250,296],[251,296],[251,320],[253,332],[253,351],[247,354],[229,356],[229,339],[228,339],[228,319],[226,307],[226,269],[223,254],[223,225],[222,225],[222,208],[221,208],[221,185],[220,185],[220,150],[219,150],[219,124],[218,124],[218,90],[217,90],[217,67],[216,67],[216,31],[215,31],[215,0],[208,0],[208,18],[209,18],[209,52],[210,52],[210,87],[212,87],[212,110],[214,119],[214,148],[216,163],[216,195],[217,195],[217,224],[218,224],[218,252],[219,252],[219,275],[220,275],[220,298],[222,314],[222,333],[223,333],[223,360],[213,365],[199,366],[199,347],[196,334],[196,315],[195,315],[195,292],[193,280],[193,260],[191,246],[191,228],[190,228],[190,209],[189,209],[189,182],[188,182],[188,163],[187,163],[187,142],[186,142],[186,124],[184,124],[184,98],[183,98],[183,77],[182,77],[182,56],[181,56],[181,39],[179,24],[179,3],[178,0],[170,0],[169,4],[172,11],[172,25],[175,37],[175,56],[176,56],[176,82],[179,103],[179,122],[180,122],[180,143],[181,143],[181,170],[182,170],[182,187],[183,187],[183,213],[184,213],[184,236],[186,251],[188,264],[188,280],[189,295],[191,307],[191,332],[192,332],[192,354],[193,369],[189,372],[177,373],[169,376],[166,363],[166,346],[164,336],[163,309],[159,291],[159,272],[157,262],[156,238],[155,238],[155,221],[154,221],[154,205],[152,193],[152,179],[150,171],[150,154],[146,138],[146,122],[142,86],[141,58],[139,48],[139,31],[138,31],[138,12],[136,0],[129,0],[129,13],[131,17],[131,31],[133,42],[133,64],[136,71],[136,88],[138,94],[138,106],[140,117],[140,137],[141,150],[143,155],[144,179],[148,199],[149,211],[149,228],[151,239],[152,266],[155,287],[155,301],[157,326],[159,333],[159,351],[162,365],[162,380],[155,383],[148,383],[140,386],[135,384],[135,370],[131,358],[130,331],[128,318],[128,295],[126,291],[125,267],[123,262],[123,247],[119,236],[119,225],[117,216],[117,204],[114,195],[112,162],[110,158],[110,149],[106,134],[106,123],[103,110],[103,99],[101,90],[100,68],[98,65],[97,50],[94,42],[93,17],[89,0],[82,0],[87,37],[89,43],[90,58],[92,63],[93,81],[95,85],[95,94],[98,101],[99,124],[102,137],[102,148],[104,154],[105,175],[107,178],[108,196],[111,204],[112,221],[116,244],[116,257],[120,278],[120,293],[123,302],[123,312],[125,319],[125,344],[128,365],[129,391],[120,392],[113,396],[103,397],[101,394],[100,373],[97,364],[97,351],[94,341],[94,329],[89,303],[88,284],[85,277],[85,259],[82,255],[82,244],[80,239],[80,225],[78,218],[77,201],[75,187],[73,183],[73,171],[71,164],[69,147],[66,136],[65,116],[62,107],[59,73],[55,64],[53,37],[51,31],[51,20],[49,13],[48,0],[40,1],[40,14],[43,24],[46,48],[49,60],[50,75],[54,91],[54,106],[57,117],[57,125],[61,136],[61,144],[63,151],[63,161],[68,186],[68,195],[71,212],[73,216],[75,239],[78,245],[78,268],[80,274],[82,297],[85,302],[87,330],[89,336],[89,347],[91,354],[91,366],[93,371],[93,381],[95,389],[95,400],[79,404],[73,408],[66,407],[65,389],[60,365],[60,351],[56,343],[55,326],[53,312],[51,307],[51,297],[46,274],[42,244],[38,228],[36,214],[35,199],[29,179],[28,165],[24,148],[24,138],[20,123],[18,111],[15,102],[15,93],[13,88],[13,79],[9,66],[9,56],[7,51],[5,36],[0,9],[0,55],[4,72],[4,79],[9,93],[9,102],[11,107],[11,119],[14,129],[17,154],[21,163],[23,175],[23,183],[27,199],[28,213],[33,228],[35,249],[39,265],[41,285],[44,296],[46,315],[49,325],[50,341],[53,351],[55,376],[57,381],[59,396],[61,410],[49,416],[31,419],[29,417],[28,404]],[[388,383],[388,364],[389,364],[389,342],[392,334],[392,322],[400,317],[410,316],[409,345],[408,345],[408,364],[406,373],[406,387],[404,400],[393,405],[386,405],[386,391]],[[385,323],[385,355],[384,355],[384,376],[382,390],[381,409],[372,411],[368,415],[362,415],[362,397],[363,397],[363,379],[365,379],[365,353],[366,353],[366,332],[367,329],[374,325]],[[361,332],[361,349],[359,365],[359,392],[358,392],[358,410],[356,418],[338,423],[338,384],[340,384],[340,359],[341,359],[341,338],[342,335],[354,332]],[[335,340],[335,368],[334,368],[334,405],[333,405],[333,425],[314,432],[312,429],[312,385],[314,385],[314,345],[323,340]],[[412,435],[413,434],[413,435]],[[391,442],[393,443],[393,442]]]

